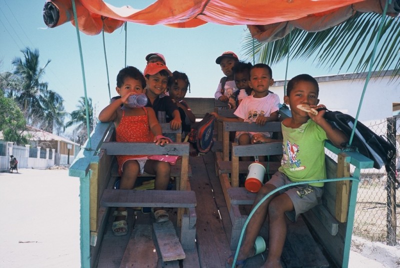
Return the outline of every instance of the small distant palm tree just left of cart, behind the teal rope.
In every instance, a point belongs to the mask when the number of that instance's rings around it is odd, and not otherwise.
[[[91,104],[91,98],[87,98],[87,106],[89,110],[89,132],[93,130],[93,106]],[[78,134],[78,143],[83,144],[87,139],[87,127],[86,127],[86,105],[84,97],[80,97],[76,110],[71,112],[71,120],[65,123],[65,127],[77,125],[76,132]]]

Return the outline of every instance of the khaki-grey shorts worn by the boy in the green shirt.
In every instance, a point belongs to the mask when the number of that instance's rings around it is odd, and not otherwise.
[[[277,188],[289,183],[293,183],[293,181],[284,173],[276,171],[265,184],[271,184]],[[319,203],[323,188],[311,186],[309,184],[297,184],[279,190],[280,194],[283,192],[290,197],[294,206],[294,210],[286,212],[286,216],[291,221],[295,222],[299,214],[304,213]]]

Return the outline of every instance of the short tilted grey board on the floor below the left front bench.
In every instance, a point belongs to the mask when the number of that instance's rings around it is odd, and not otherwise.
[[[184,259],[185,253],[170,220],[154,222],[153,229],[162,261]]]

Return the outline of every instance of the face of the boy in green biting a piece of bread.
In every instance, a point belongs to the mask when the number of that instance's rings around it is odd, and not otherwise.
[[[315,85],[308,81],[298,81],[294,84],[289,96],[284,96],[284,102],[290,105],[290,110],[302,115],[307,112],[297,108],[298,104],[316,105],[319,102]]]

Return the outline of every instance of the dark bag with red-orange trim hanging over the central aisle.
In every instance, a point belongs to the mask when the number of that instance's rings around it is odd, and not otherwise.
[[[187,134],[185,141],[193,144],[196,151],[190,152],[190,155],[197,155],[198,153],[207,153],[214,141],[212,140],[212,133],[214,131],[215,116],[210,113],[205,113],[204,118],[191,125],[190,132]]]

